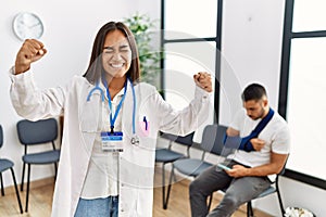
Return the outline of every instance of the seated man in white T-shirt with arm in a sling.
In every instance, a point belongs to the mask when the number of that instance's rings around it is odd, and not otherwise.
[[[241,204],[266,190],[271,186],[269,175],[281,171],[287,161],[289,128],[269,107],[265,88],[249,85],[243,90],[242,102],[244,110],[237,113],[226,131],[228,138],[240,138],[237,150],[226,159],[230,169],[212,166],[191,182],[192,217],[231,216]],[[208,196],[222,189],[227,189],[223,200],[209,213]]]

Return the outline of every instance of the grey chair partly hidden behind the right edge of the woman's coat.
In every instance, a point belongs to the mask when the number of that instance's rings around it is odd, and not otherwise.
[[[192,138],[195,132],[191,132],[185,137],[178,137],[170,133],[162,133],[161,138],[168,140],[168,146],[164,149],[155,150],[155,162],[163,163],[162,165],[162,195],[163,195],[163,208],[167,208],[167,202],[170,197],[171,184],[167,187],[167,195],[165,196],[165,164],[173,163],[176,159],[187,157],[185,154],[173,151],[172,145],[174,143],[186,145],[187,150],[192,145]]]

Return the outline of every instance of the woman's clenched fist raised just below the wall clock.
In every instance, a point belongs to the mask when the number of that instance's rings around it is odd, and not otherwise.
[[[26,39],[20,49],[15,61],[15,75],[25,73],[30,64],[41,59],[47,53],[42,42],[36,39]]]

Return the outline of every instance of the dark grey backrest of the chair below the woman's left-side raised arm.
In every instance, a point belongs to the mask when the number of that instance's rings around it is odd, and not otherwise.
[[[37,122],[23,119],[16,127],[20,142],[24,145],[52,142],[58,137],[58,123],[54,118]]]

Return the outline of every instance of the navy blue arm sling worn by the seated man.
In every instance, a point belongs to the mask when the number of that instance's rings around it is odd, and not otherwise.
[[[272,119],[274,111],[269,107],[268,114],[256,125],[256,127],[247,137],[224,137],[224,145],[229,149],[243,150],[246,152],[254,151],[251,139],[258,138],[261,131],[266,127],[268,122]]]

